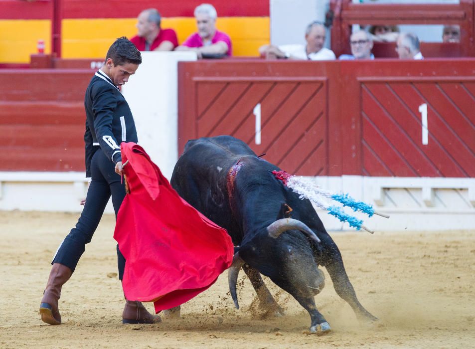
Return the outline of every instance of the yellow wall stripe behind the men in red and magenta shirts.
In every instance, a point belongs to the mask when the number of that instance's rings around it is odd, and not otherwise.
[[[137,33],[136,18],[63,19],[63,58],[104,58],[111,43],[120,36]],[[162,28],[173,28],[182,43],[196,31],[192,17],[162,19]],[[235,56],[258,56],[259,46],[269,43],[269,17],[220,17],[216,27],[226,32]]]

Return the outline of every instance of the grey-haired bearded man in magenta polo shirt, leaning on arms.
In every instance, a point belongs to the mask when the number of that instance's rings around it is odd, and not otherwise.
[[[195,51],[198,58],[231,56],[231,38],[216,29],[218,14],[213,5],[202,3],[194,9],[198,32],[191,34],[177,51]]]

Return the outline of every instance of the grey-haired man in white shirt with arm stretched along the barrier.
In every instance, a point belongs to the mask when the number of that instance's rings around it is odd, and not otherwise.
[[[332,50],[323,47],[326,29],[320,22],[314,21],[307,26],[305,40],[307,45],[264,45],[259,48],[259,53],[268,59],[309,59],[333,60],[336,59]]]

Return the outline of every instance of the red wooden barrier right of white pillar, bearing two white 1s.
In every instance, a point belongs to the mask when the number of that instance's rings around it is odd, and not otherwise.
[[[474,59],[179,63],[179,152],[188,139],[231,134],[293,174],[475,176],[474,67]]]

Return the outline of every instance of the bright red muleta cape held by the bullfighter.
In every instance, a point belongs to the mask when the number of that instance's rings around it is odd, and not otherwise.
[[[232,264],[226,230],[183,200],[142,147],[121,144],[130,193],[117,214],[114,238],[126,259],[128,300],[154,302],[158,313],[208,289]]]

